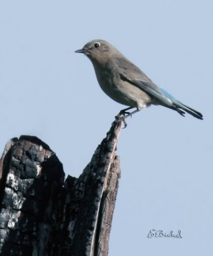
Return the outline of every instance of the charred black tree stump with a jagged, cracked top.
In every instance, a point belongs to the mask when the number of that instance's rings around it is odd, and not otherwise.
[[[79,178],[33,136],[8,141],[0,161],[0,255],[105,256],[120,178],[114,122]]]

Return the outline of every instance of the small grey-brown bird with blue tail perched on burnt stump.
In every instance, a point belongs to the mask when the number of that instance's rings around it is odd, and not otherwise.
[[[157,86],[109,42],[91,40],[82,49],[75,52],[83,53],[91,60],[100,88],[111,99],[128,106],[120,111],[122,117],[118,118],[123,120],[125,126],[127,125],[125,118],[151,105],[161,105],[173,109],[182,116],[187,112],[203,120],[203,115],[200,112],[186,106],[166,90]],[[136,110],[129,112],[133,108]]]

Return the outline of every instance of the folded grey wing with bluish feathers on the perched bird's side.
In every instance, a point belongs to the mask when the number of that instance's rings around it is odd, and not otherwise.
[[[120,77],[123,81],[137,86],[139,89],[146,92],[150,97],[157,99],[159,104],[167,107],[173,106],[172,101],[161,92],[160,88],[149,79],[143,71],[136,67],[133,63],[125,58],[116,58],[116,65],[120,70]]]

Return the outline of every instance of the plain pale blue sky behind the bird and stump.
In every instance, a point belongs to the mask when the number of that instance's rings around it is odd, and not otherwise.
[[[153,106],[127,120],[110,256],[213,252],[212,25],[211,0],[0,2],[1,152],[14,136],[38,136],[80,175],[124,108],[74,53],[95,38],[203,113]],[[153,228],[183,238],[148,239]]]

